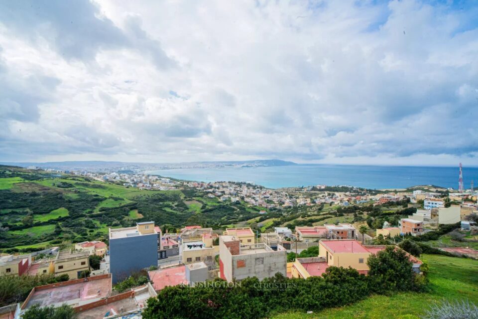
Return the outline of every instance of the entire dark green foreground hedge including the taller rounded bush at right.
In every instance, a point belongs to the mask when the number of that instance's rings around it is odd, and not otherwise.
[[[143,318],[259,319],[284,310],[319,311],[353,304],[371,294],[425,288],[426,277],[413,273],[402,250],[388,247],[371,255],[367,264],[368,276],[352,268],[329,267],[322,277],[308,279],[277,274],[263,281],[247,278],[238,285],[217,279],[199,287],[166,287],[148,301]]]

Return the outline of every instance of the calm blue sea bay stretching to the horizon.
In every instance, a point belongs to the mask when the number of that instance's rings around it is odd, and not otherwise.
[[[366,188],[406,188],[438,185],[458,189],[458,167],[292,165],[247,168],[186,168],[150,171],[196,181],[252,181],[269,188],[307,185],[353,185]],[[464,167],[465,188],[478,188],[478,167]]]

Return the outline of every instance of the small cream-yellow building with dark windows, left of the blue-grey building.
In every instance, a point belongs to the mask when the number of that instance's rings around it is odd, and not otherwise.
[[[87,251],[71,252],[60,251],[54,260],[55,276],[67,274],[71,279],[78,279],[84,271],[90,270],[88,258],[90,254]]]

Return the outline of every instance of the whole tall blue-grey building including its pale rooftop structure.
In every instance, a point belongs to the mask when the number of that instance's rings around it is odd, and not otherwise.
[[[158,265],[158,236],[154,222],[136,227],[110,228],[110,272],[113,283],[143,268]]]

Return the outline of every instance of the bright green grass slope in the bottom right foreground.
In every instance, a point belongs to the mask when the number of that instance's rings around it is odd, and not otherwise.
[[[429,291],[372,296],[351,306],[326,309],[316,314],[279,314],[273,319],[418,319],[433,302],[468,299],[478,304],[478,261],[458,257],[424,255],[430,266]]]

